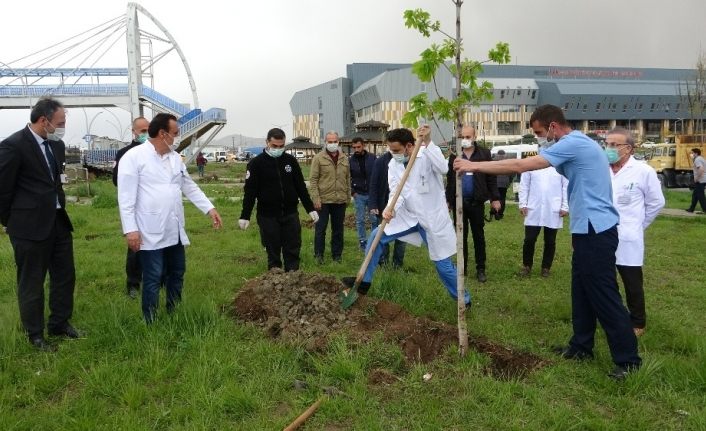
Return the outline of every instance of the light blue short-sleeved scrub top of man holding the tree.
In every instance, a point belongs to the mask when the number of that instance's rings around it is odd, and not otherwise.
[[[596,141],[573,131],[543,150],[541,156],[569,180],[571,233],[588,233],[589,223],[596,233],[618,224],[608,157]]]

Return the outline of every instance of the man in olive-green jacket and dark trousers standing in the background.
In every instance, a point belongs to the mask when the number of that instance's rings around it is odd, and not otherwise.
[[[326,134],[325,148],[311,161],[309,178],[311,200],[319,212],[314,230],[314,257],[318,264],[324,262],[326,227],[331,218],[331,257],[341,261],[343,254],[343,220],[351,198],[351,172],[348,156],[338,145],[338,133]]]

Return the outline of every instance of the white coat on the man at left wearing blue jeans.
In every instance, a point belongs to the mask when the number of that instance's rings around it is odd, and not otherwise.
[[[125,153],[118,171],[123,234],[140,232],[141,250],[159,250],[179,240],[188,245],[182,193],[204,214],[214,208],[189,176],[178,153],[170,151],[161,156],[149,142]]]

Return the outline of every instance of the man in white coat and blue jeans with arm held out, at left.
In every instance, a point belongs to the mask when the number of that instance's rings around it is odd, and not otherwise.
[[[142,314],[147,323],[155,319],[159,286],[166,276],[167,311],[181,301],[186,271],[182,194],[208,214],[213,227],[221,217],[186,171],[179,146],[179,125],[171,114],[157,114],[150,122],[150,139],[128,151],[120,161],[118,203],[123,234],[128,247],[142,264]]]

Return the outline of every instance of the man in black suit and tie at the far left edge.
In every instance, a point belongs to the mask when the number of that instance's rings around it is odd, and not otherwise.
[[[74,306],[73,226],[62,188],[66,125],[63,105],[42,98],[31,124],[0,142],[0,223],[7,227],[17,265],[20,318],[30,343],[56,350],[44,338],[44,279],[49,271],[53,336],[78,338],[69,319]]]

